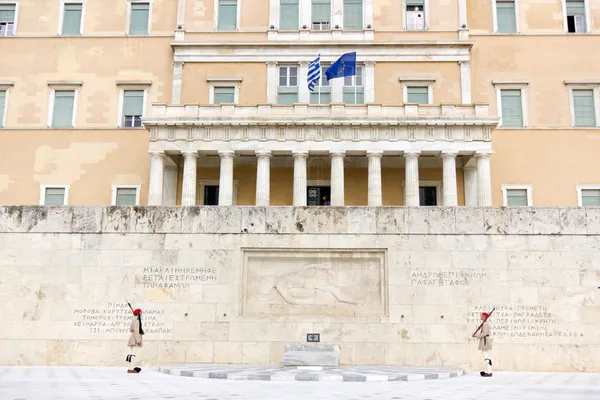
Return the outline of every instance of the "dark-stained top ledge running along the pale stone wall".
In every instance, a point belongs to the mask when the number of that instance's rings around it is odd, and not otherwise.
[[[0,206],[0,232],[596,235],[600,207]]]

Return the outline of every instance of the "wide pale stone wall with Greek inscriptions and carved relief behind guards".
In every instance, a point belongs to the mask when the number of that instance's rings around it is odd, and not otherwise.
[[[280,363],[591,371],[600,208],[0,207],[0,364]]]

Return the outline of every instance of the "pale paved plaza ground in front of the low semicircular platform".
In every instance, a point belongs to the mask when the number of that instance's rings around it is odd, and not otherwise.
[[[600,374],[496,372],[396,382],[265,382],[172,376],[145,368],[0,367],[1,400],[598,400]]]

